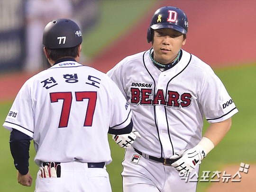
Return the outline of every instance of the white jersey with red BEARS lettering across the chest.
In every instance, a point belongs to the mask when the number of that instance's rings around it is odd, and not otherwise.
[[[126,57],[107,74],[131,106],[133,126],[141,135],[132,146],[150,156],[168,158],[197,145],[204,115],[214,123],[238,112],[210,66],[184,50],[164,72],[146,51]]]

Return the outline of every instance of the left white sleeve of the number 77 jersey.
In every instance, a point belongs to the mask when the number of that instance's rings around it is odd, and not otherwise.
[[[16,129],[25,133],[29,137],[34,137],[34,113],[32,107],[32,100],[30,96],[29,83],[31,79],[27,80],[21,87],[16,96],[9,113],[6,117],[3,127],[12,131]]]

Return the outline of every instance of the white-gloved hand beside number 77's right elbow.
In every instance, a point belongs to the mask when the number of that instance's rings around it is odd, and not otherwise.
[[[141,138],[140,134],[137,130],[132,129],[132,131],[128,134],[122,134],[122,135],[112,135],[112,139],[116,141],[116,143],[121,148],[127,148],[129,147],[136,138]]]

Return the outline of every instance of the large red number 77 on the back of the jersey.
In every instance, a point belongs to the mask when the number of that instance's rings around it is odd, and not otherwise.
[[[95,91],[82,91],[75,92],[75,97],[77,102],[83,101],[83,99],[88,99],[88,105],[85,115],[85,120],[83,126],[91,126],[93,114],[95,111],[97,92]],[[67,127],[68,119],[71,111],[72,104],[72,92],[56,92],[50,93],[51,103],[58,102],[60,99],[63,100],[62,111],[60,116],[59,128]]]

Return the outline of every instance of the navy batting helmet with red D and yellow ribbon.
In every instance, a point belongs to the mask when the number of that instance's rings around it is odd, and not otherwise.
[[[188,18],[179,8],[166,6],[157,9],[147,30],[146,38],[148,43],[153,39],[153,30],[161,28],[171,28],[186,34],[188,32]]]

